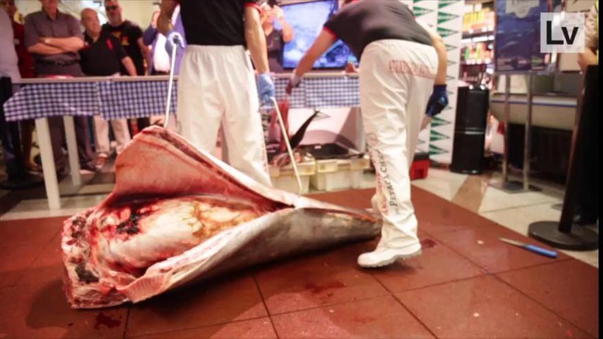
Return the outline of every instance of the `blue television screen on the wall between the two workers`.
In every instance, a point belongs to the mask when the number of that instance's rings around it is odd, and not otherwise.
[[[297,67],[299,60],[322,31],[325,22],[338,8],[337,0],[282,5],[284,18],[295,32],[293,40],[284,46],[283,68]],[[278,22],[275,22],[275,26],[278,26]],[[315,62],[314,68],[343,68],[347,62],[358,64],[349,47],[339,40]]]

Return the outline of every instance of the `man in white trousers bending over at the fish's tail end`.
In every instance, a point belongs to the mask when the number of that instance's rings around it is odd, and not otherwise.
[[[360,56],[360,108],[377,173],[373,208],[383,222],[377,249],[360,255],[358,264],[385,266],[421,253],[408,171],[423,116],[447,104],[446,50],[441,38],[417,23],[399,1],[355,1],[325,23],[288,92],[338,39]]]

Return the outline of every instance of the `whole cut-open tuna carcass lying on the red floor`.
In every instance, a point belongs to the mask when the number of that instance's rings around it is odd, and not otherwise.
[[[374,238],[371,214],[267,188],[160,127],[117,157],[113,192],[64,223],[72,307],[134,303],[193,280]]]

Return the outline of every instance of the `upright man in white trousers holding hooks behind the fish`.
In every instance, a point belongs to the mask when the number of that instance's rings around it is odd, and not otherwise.
[[[199,149],[213,151],[223,127],[228,162],[271,186],[259,112],[274,97],[257,0],[162,0],[159,31],[166,49],[182,40],[171,16],[180,3],[186,49],[178,79],[178,130]],[[251,60],[258,71],[258,87]]]

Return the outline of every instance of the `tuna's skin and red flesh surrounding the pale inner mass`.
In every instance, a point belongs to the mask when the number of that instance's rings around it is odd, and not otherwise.
[[[125,269],[99,255],[101,221],[118,206],[140,199],[195,196],[245,203],[253,206],[259,217],[221,230],[140,271]],[[115,218],[121,222],[126,214]],[[74,308],[136,303],[245,266],[368,240],[379,230],[376,218],[367,211],[263,186],[195,149],[184,138],[153,126],[137,134],[117,157],[113,192],[95,208],[64,222],[64,290]]]

